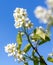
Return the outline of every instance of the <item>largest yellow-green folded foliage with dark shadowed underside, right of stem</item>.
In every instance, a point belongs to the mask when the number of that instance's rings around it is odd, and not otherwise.
[[[44,44],[47,41],[50,41],[49,35],[46,33],[46,31],[37,28],[34,30],[34,36],[32,37],[32,40],[39,40],[39,45]]]

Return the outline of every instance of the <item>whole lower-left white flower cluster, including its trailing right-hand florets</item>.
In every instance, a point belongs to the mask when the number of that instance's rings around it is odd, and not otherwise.
[[[24,52],[20,52],[16,48],[16,44],[8,44],[5,46],[5,52],[8,53],[8,56],[14,56],[14,58],[18,61],[24,61]]]

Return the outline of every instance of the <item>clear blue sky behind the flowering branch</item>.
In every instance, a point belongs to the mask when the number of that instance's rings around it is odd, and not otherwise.
[[[0,0],[0,65],[23,65],[22,63],[14,61],[13,57],[8,57],[4,51],[4,46],[8,43],[16,42],[17,29],[14,27],[13,11],[16,7],[22,7],[27,9],[29,18],[35,26],[42,25],[38,22],[38,19],[34,16],[34,9],[36,6],[41,5],[46,7],[45,0]],[[53,65],[46,60],[48,53],[53,48],[53,30],[51,29],[51,41],[41,45],[39,52],[44,56],[48,65]],[[30,62],[30,65],[32,63]]]

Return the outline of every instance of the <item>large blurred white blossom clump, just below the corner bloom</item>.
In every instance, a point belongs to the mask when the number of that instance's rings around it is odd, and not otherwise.
[[[41,6],[38,6],[35,10],[34,10],[34,14],[35,16],[40,19],[41,22],[43,23],[49,23],[50,21],[50,17],[52,17],[52,11],[50,9],[45,9]]]

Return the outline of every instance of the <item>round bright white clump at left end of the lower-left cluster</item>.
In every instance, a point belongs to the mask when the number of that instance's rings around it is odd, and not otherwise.
[[[14,56],[15,51],[16,51],[16,44],[12,43],[5,46],[5,52],[8,53],[8,56],[12,56],[12,55]]]

